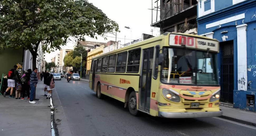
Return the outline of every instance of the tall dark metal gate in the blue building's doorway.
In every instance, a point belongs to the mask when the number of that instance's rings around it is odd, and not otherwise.
[[[234,90],[234,45],[232,41],[220,43],[221,101],[233,103]]]

